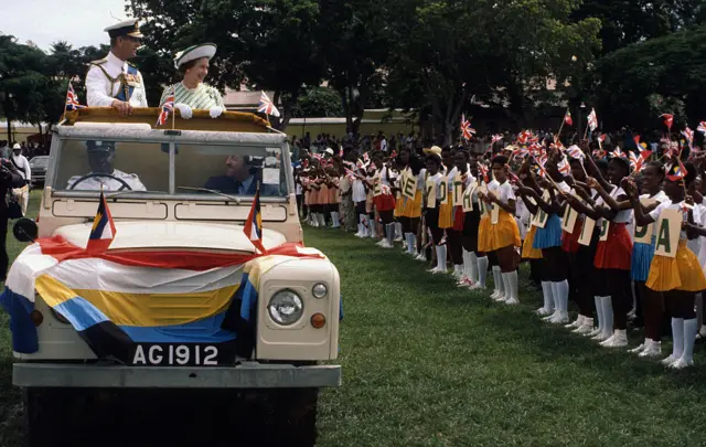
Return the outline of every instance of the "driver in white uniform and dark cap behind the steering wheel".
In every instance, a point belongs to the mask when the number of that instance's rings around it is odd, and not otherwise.
[[[129,174],[113,167],[115,160],[114,141],[86,141],[86,152],[90,172],[74,175],[66,185],[69,190],[99,191],[147,191],[137,174]]]

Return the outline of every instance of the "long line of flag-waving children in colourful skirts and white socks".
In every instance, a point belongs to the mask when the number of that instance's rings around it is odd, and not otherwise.
[[[706,158],[687,159],[668,140],[661,153],[596,143],[566,148],[526,131],[482,155],[341,148],[304,157],[297,192],[307,224],[357,227],[355,236],[387,249],[402,243],[459,287],[485,290],[490,273],[491,298],[507,306],[523,299],[517,274],[527,263],[545,321],[613,349],[628,348],[629,324],[643,326],[644,340],[629,351],[642,358],[661,358],[671,332],[661,361],[692,365],[706,290]]]

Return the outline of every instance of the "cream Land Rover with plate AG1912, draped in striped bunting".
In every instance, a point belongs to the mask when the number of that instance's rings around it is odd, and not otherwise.
[[[259,188],[265,248],[302,243],[286,136],[252,114],[213,119],[196,110],[156,127],[158,114],[67,114],[52,139],[39,220],[15,225],[19,240],[39,237],[25,252],[56,237],[83,249],[101,189],[115,222],[103,257],[79,256],[35,275],[36,348],[15,349],[13,366],[32,444],[86,440],[93,425],[65,424],[76,423],[76,407],[90,417],[92,405],[116,393],[149,406],[148,391],[197,391],[270,401],[274,428],[257,445],[313,445],[318,390],[341,384],[340,366],[327,363],[339,351],[339,273],[309,248],[254,257],[243,227]],[[203,434],[195,439],[190,445],[208,445],[199,443]]]

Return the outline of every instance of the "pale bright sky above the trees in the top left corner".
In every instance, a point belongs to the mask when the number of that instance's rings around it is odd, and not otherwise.
[[[61,4],[61,7],[60,7]],[[0,33],[47,51],[52,42],[75,47],[108,43],[104,28],[126,18],[126,0],[0,0]]]

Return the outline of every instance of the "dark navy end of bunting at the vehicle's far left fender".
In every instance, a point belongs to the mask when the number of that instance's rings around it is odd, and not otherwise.
[[[0,306],[10,315],[12,350],[22,354],[32,354],[39,351],[36,327],[30,319],[30,312],[34,310],[34,302],[6,286],[4,291],[0,295]]]

